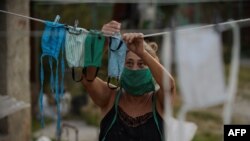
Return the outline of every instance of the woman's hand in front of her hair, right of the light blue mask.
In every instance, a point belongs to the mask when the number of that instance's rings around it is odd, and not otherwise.
[[[141,57],[144,53],[144,39],[142,33],[124,33],[123,40],[130,51]]]

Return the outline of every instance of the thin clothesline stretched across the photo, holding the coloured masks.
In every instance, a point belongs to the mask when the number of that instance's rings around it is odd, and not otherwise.
[[[38,18],[29,17],[29,16],[24,16],[24,15],[21,15],[21,14],[16,14],[16,13],[4,11],[4,10],[0,10],[0,12],[15,15],[15,16],[19,16],[19,17],[23,17],[23,18],[27,18],[27,19],[37,21],[37,22],[42,22],[42,23],[46,22],[45,20],[41,20],[41,19],[38,19]],[[182,31],[189,31],[189,30],[197,30],[197,29],[204,29],[204,28],[210,28],[210,27],[215,27],[215,26],[225,26],[225,25],[229,25],[231,23],[241,23],[241,22],[248,22],[248,21],[250,21],[250,18],[227,21],[227,22],[222,22],[222,23],[217,23],[217,24],[209,24],[209,25],[204,25],[204,26],[195,27],[195,28],[180,29],[180,30],[177,30],[177,31],[182,32]],[[170,33],[170,31],[164,31],[164,32],[158,32],[158,33],[152,33],[152,34],[145,34],[143,37],[147,38],[147,37],[165,35],[165,34],[169,34],[169,33]],[[108,36],[108,35],[104,35],[104,36]]]

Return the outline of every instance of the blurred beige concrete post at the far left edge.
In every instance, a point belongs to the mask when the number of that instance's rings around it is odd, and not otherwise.
[[[3,0],[1,8],[29,15],[29,0]],[[0,94],[30,103],[29,20],[0,13]],[[8,133],[0,141],[31,140],[31,114],[26,108],[7,117]]]

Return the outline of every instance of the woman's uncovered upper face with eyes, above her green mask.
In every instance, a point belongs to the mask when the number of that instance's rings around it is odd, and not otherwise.
[[[142,59],[132,51],[128,51],[125,60],[125,67],[131,70],[144,69],[147,66]]]

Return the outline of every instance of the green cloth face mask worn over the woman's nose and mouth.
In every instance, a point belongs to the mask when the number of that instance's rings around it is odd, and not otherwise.
[[[155,90],[152,74],[148,68],[141,70],[124,68],[120,81],[121,87],[124,88],[128,94],[134,96],[141,96]]]

